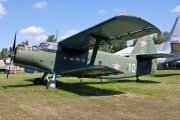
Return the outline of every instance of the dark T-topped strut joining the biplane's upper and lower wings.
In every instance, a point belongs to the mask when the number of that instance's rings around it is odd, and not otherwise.
[[[91,61],[89,63],[89,65],[94,65],[94,61],[96,59],[96,55],[97,55],[97,51],[98,51],[98,48],[99,48],[100,41],[109,40],[109,37],[99,36],[99,35],[96,35],[96,34],[90,34],[90,36],[92,36],[93,38],[96,39],[96,44],[94,45]]]

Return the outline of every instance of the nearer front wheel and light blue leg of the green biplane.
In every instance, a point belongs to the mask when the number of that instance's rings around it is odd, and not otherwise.
[[[57,74],[54,73],[52,80],[47,79],[46,88],[47,89],[55,89],[56,88],[56,77]]]

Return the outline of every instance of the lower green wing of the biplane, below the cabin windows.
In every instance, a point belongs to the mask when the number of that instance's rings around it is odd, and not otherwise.
[[[123,72],[112,69],[110,67],[94,65],[73,70],[63,71],[62,76],[76,76],[76,77],[99,77],[112,74],[123,74]]]

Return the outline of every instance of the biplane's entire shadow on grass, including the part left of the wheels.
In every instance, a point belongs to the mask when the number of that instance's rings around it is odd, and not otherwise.
[[[8,89],[8,87],[28,87],[28,86],[35,86],[33,84],[33,79],[26,79],[25,81],[32,82],[32,84],[24,84],[24,85],[8,85],[8,86],[2,86],[5,89]],[[57,89],[63,90],[63,91],[68,91],[70,93],[74,93],[80,96],[110,96],[110,95],[119,95],[119,94],[126,94],[125,92],[120,92],[120,91],[113,91],[113,90],[108,90],[104,88],[97,88],[97,87],[92,87],[88,86],[90,84],[112,84],[112,83],[130,83],[130,82],[136,82],[133,80],[104,80],[102,83],[100,81],[96,82],[82,82],[82,83],[64,83],[61,81],[57,81]],[[160,83],[160,82],[155,82],[151,80],[142,80],[139,83],[142,84],[155,84],[155,83]]]

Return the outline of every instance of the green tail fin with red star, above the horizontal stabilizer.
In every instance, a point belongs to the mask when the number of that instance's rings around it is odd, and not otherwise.
[[[144,36],[138,39],[131,53],[131,56],[138,54],[153,54],[156,53],[156,47],[153,39],[150,36]]]

